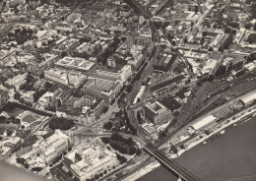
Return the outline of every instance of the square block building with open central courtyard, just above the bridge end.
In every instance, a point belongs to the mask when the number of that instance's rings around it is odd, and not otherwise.
[[[154,124],[168,122],[171,118],[171,111],[164,107],[159,101],[148,102],[143,106],[144,116]]]

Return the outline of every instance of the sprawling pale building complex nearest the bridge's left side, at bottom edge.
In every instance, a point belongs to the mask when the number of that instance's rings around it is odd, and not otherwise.
[[[96,174],[109,171],[118,163],[116,153],[98,143],[83,143],[63,156],[64,167],[81,181],[95,178]]]

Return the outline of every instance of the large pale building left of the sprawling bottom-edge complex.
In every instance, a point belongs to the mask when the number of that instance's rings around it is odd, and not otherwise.
[[[72,139],[61,132],[55,130],[54,134],[45,140],[38,140],[32,145],[34,154],[40,153],[44,156],[46,163],[50,163],[63,151],[67,151],[73,144]]]

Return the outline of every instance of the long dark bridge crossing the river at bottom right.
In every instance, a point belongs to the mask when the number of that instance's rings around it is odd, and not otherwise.
[[[170,159],[165,154],[160,152],[152,144],[148,144],[147,146],[145,146],[144,150],[149,152],[150,154],[154,155],[160,161],[160,163],[162,163],[167,168],[172,170],[174,173],[179,175],[182,180],[185,180],[185,181],[201,181],[198,177],[196,177],[194,174],[189,172],[185,167],[180,165],[174,159]]]

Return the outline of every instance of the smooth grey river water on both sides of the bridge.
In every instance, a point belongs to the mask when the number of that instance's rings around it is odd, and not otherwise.
[[[175,159],[203,181],[256,181],[256,117]],[[138,181],[176,181],[160,166]]]

